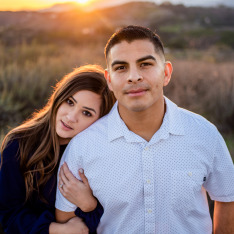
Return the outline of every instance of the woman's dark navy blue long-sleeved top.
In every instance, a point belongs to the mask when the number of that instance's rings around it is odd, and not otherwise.
[[[60,158],[65,150],[60,147]],[[51,176],[43,189],[43,196],[48,201],[40,200],[35,191],[31,199],[25,202],[25,183],[20,171],[19,143],[12,141],[3,152],[3,164],[0,170],[0,223],[6,233],[49,233],[49,225],[55,222],[55,196],[57,186],[57,171]],[[79,208],[75,214],[83,218],[90,233],[96,228],[103,214],[103,208],[98,202],[92,212],[83,212]]]

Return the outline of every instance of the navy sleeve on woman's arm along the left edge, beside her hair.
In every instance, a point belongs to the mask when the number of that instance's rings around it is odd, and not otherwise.
[[[20,172],[19,144],[14,140],[3,152],[0,170],[0,222],[6,233],[49,233],[52,212],[36,211],[25,203],[25,184]]]

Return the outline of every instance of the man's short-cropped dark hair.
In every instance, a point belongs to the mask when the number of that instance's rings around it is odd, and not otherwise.
[[[110,49],[114,45],[119,44],[122,41],[127,41],[128,43],[130,43],[132,41],[142,39],[148,39],[149,41],[151,41],[154,44],[155,51],[160,51],[164,55],[163,43],[156,33],[152,32],[149,28],[129,25],[127,27],[119,29],[110,37],[104,51],[106,59]]]

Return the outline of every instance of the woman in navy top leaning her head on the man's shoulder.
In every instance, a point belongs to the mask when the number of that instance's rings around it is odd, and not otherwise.
[[[84,205],[79,200],[75,212],[82,219],[55,222],[56,177],[70,139],[113,104],[103,70],[83,66],[57,83],[42,110],[6,135],[0,170],[0,222],[6,233],[81,233],[87,232],[86,225],[95,231],[103,210],[82,173],[84,182],[76,180],[76,186],[84,194]],[[71,202],[76,204],[75,197]]]

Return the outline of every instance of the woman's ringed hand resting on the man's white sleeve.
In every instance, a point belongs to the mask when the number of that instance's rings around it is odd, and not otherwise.
[[[84,170],[79,169],[82,181],[78,180],[64,163],[59,171],[58,188],[62,195],[71,203],[75,204],[84,212],[90,212],[97,206],[97,199],[93,196],[88,179]]]

